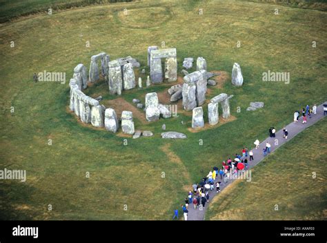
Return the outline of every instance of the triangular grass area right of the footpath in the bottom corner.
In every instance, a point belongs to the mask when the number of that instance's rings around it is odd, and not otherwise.
[[[326,220],[326,127],[304,130],[255,166],[251,182],[226,188],[206,220]]]

